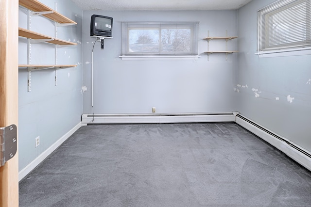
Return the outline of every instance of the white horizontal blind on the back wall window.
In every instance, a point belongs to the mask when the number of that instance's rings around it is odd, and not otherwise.
[[[197,56],[199,22],[122,22],[121,56]]]

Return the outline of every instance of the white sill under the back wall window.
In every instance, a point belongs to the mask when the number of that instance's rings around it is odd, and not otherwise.
[[[198,60],[201,56],[119,56],[123,61],[129,60]]]

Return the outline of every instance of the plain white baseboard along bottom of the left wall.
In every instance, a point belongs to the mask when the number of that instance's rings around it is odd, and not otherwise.
[[[26,167],[24,167],[18,173],[18,181],[23,179],[26,175],[28,175],[32,170],[35,169],[44,159],[46,159],[57,147],[59,147],[62,143],[64,143],[75,131],[77,131],[82,126],[80,122],[75,127],[69,130],[64,136],[62,136],[59,140],[52,144],[47,150],[42,152],[36,159],[34,159],[31,163],[29,163]]]

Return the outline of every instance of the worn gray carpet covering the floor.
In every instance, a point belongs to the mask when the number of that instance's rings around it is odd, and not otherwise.
[[[81,127],[20,207],[311,206],[311,172],[234,123]]]

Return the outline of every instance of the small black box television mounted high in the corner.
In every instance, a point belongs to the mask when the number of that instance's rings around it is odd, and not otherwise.
[[[112,37],[113,18],[109,16],[92,15],[90,35]]]

